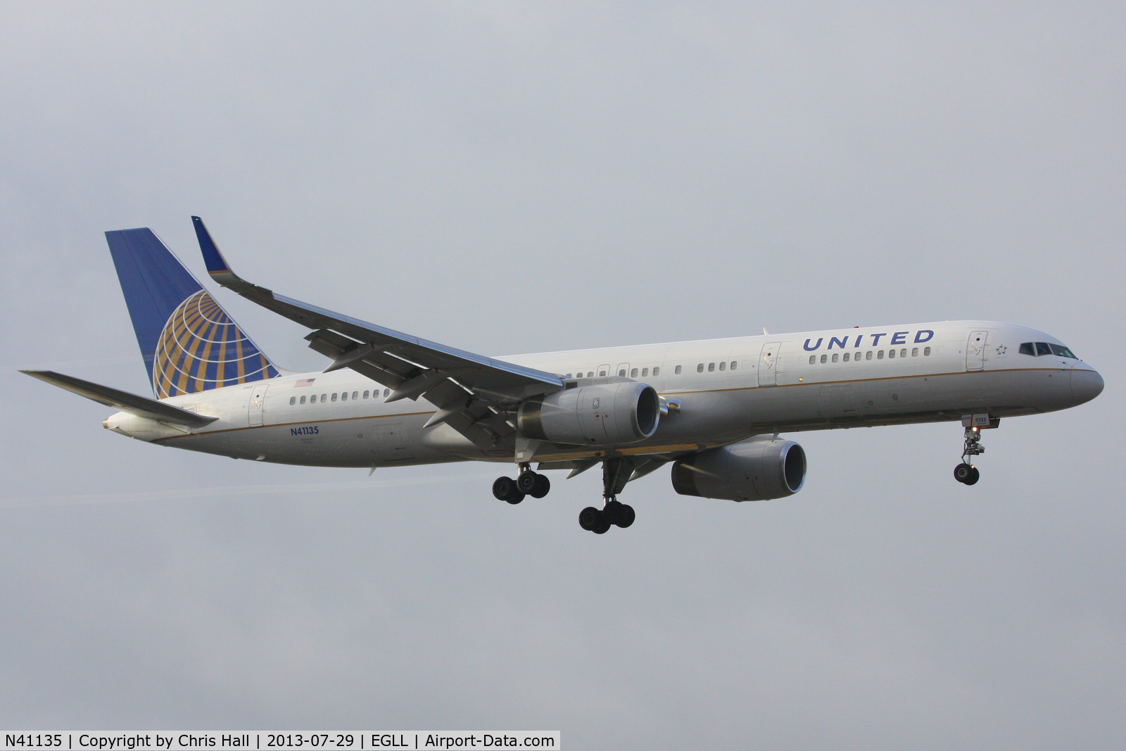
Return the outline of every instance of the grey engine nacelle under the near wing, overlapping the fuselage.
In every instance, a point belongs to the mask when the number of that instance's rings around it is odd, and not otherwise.
[[[625,381],[564,388],[520,404],[517,426],[527,438],[555,444],[636,444],[656,432],[661,401],[643,383]]]

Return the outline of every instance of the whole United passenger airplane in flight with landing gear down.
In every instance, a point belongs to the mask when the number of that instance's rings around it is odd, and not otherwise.
[[[106,232],[153,397],[23,370],[116,408],[102,426],[160,446],[309,466],[495,462],[520,503],[602,468],[595,534],[629,527],[627,483],[671,465],[682,495],[785,498],[806,475],[783,432],[960,422],[955,479],[973,485],[982,431],[1083,404],[1102,377],[1058,339],[992,321],[855,327],[485,357],[285,297],[231,270],[193,217],[212,280],[311,332],[322,372],[277,366],[148,227]],[[533,463],[536,470],[531,468]]]

